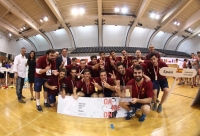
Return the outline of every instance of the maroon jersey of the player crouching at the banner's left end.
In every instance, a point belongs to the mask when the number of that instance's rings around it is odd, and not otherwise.
[[[50,86],[57,86],[57,89],[56,90],[51,90],[51,89],[48,89],[48,95],[58,95],[59,91],[62,91],[61,88],[62,88],[62,84],[66,84],[66,79],[63,78],[61,79],[60,81],[58,81],[58,76],[51,76],[48,80],[47,80],[47,83],[50,85]]]

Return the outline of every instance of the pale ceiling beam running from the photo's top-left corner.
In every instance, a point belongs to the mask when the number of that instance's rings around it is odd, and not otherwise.
[[[51,41],[39,30],[39,25],[23,10],[21,9],[13,0],[0,0],[0,3],[4,5],[7,9],[17,16],[22,21],[26,22],[31,28],[33,28],[38,34],[40,34],[52,48]]]

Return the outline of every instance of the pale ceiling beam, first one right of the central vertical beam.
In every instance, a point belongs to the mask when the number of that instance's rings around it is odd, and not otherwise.
[[[143,0],[142,1],[142,4],[140,5],[140,8],[136,15],[137,17],[135,18],[134,23],[131,25],[131,27],[129,28],[129,31],[127,33],[127,37],[126,37],[126,41],[125,41],[126,47],[129,46],[131,34],[132,34],[134,28],[137,26],[140,18],[143,16],[144,12],[146,11],[147,7],[149,6],[150,2],[151,2],[151,0]]]

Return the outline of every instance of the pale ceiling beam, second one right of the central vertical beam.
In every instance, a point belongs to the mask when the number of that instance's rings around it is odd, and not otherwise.
[[[171,21],[177,17],[193,0],[181,0],[177,5],[175,5],[175,9],[173,8],[173,12],[169,12],[166,16],[163,17],[163,21],[160,25],[160,27],[156,30],[156,32],[150,37],[149,44],[151,44],[153,38],[156,36],[157,33],[159,33],[164,27],[166,27]]]

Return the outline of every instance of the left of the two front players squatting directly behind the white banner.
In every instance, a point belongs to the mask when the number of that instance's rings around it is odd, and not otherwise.
[[[78,99],[78,97],[98,97],[98,94],[95,92],[94,82],[94,79],[91,78],[90,70],[85,69],[83,71],[83,78],[73,89],[74,99]],[[99,90],[102,90],[100,86],[98,87]],[[77,92],[77,90],[79,91]]]

